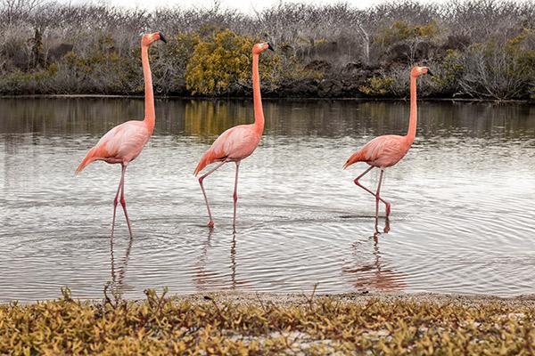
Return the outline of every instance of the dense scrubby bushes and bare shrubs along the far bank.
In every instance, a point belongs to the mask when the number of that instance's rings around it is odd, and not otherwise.
[[[251,92],[251,44],[271,96],[407,96],[408,69],[430,66],[431,97],[535,95],[535,3],[412,1],[358,10],[281,3],[244,15],[220,9],[119,9],[100,4],[0,0],[0,93],[143,92],[139,34],[152,50],[155,90],[169,95]]]

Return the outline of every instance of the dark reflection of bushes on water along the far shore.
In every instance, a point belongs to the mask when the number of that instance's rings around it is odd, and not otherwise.
[[[535,137],[531,105],[430,101],[418,123],[424,139],[464,137],[507,142]],[[359,134],[404,134],[408,105],[402,101],[274,101],[264,102],[266,134],[300,137],[341,137]],[[128,119],[143,117],[142,99],[2,99],[0,134],[33,136],[93,135],[81,143],[95,143],[103,132]],[[474,120],[473,117],[481,117]],[[185,134],[212,142],[227,128],[253,122],[252,101],[170,100],[157,106],[156,135]],[[32,136],[4,135],[6,152]],[[65,142],[80,144],[80,142]]]

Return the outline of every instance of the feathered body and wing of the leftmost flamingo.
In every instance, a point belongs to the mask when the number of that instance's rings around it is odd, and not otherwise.
[[[76,173],[95,160],[128,163],[141,153],[149,138],[149,130],[143,121],[133,120],[117,125],[104,134],[95,147],[87,152]]]

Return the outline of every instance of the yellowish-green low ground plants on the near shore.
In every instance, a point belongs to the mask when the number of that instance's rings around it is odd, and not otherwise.
[[[535,303],[454,297],[195,295],[0,305],[0,354],[535,352]]]

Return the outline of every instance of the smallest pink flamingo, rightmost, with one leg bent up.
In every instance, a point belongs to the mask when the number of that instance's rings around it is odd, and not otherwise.
[[[353,153],[351,157],[346,161],[343,168],[351,166],[355,162],[366,162],[370,167],[355,178],[355,184],[357,184],[363,190],[375,197],[375,219],[379,215],[379,201],[381,200],[385,205],[386,216],[391,212],[391,203],[384,200],[380,196],[381,182],[383,182],[384,168],[394,166],[399,162],[401,158],[404,158],[408,149],[415,141],[416,136],[416,78],[423,74],[429,74],[432,76],[432,72],[427,67],[415,67],[410,72],[410,119],[408,123],[408,131],[405,136],[399,136],[397,134],[385,134],[383,136],[375,137],[374,140],[367,142],[362,149]],[[367,189],[364,185],[360,184],[358,180],[362,178],[366,173],[371,171],[374,167],[381,169],[379,175],[379,183],[377,184],[377,190],[375,193],[372,190]]]

